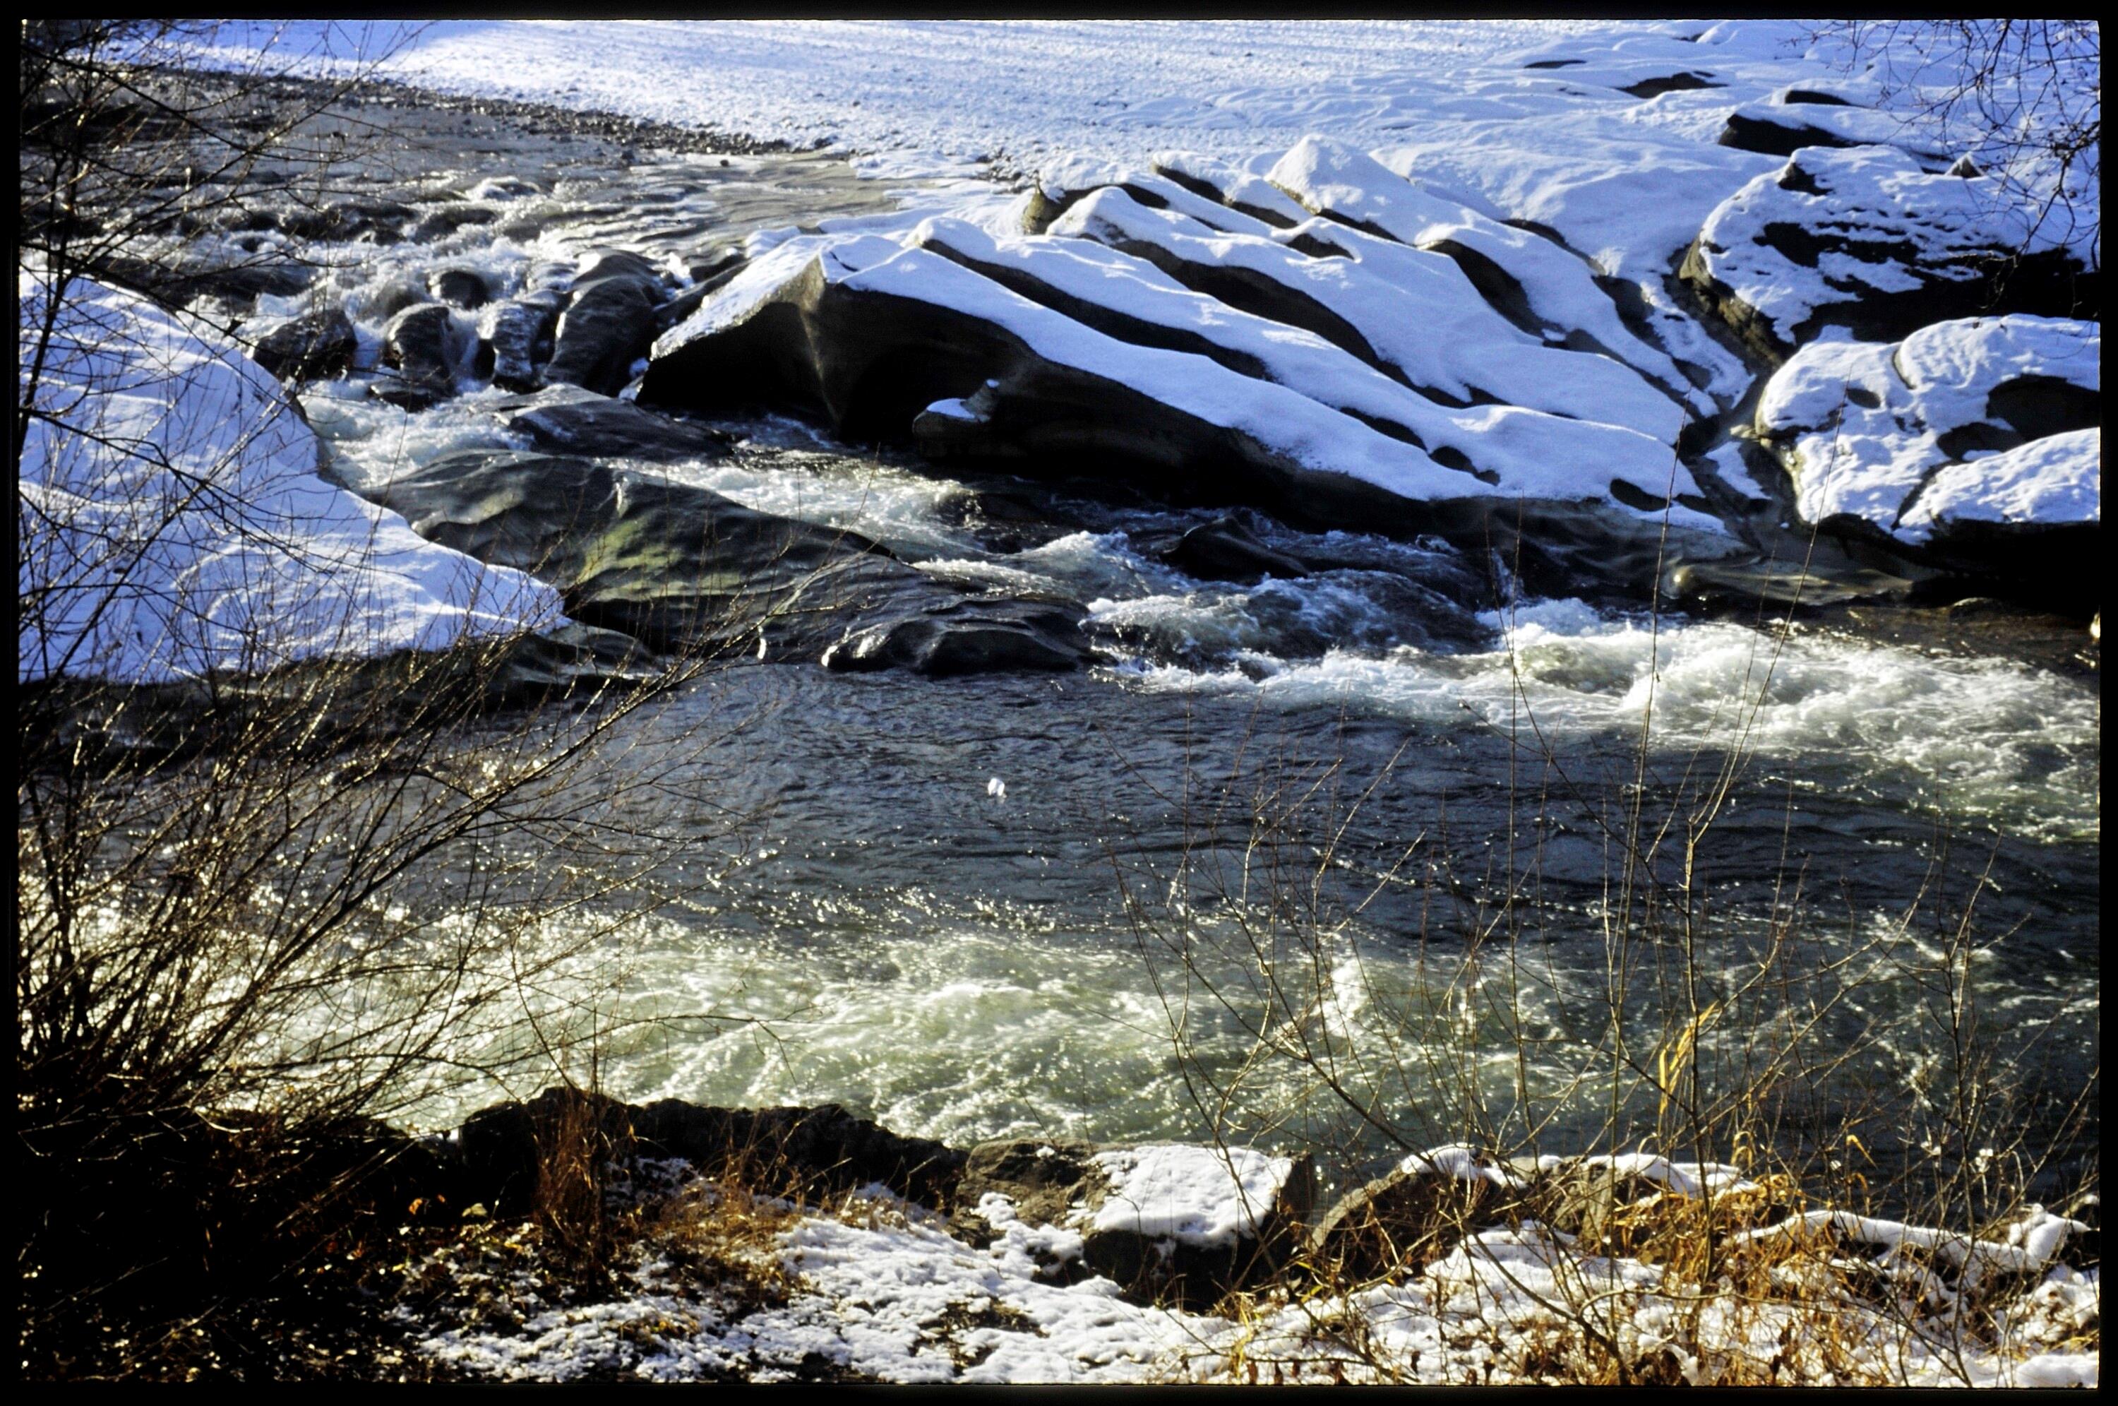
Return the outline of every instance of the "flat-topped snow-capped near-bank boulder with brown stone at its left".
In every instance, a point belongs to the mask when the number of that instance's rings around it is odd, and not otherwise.
[[[1080,1237],[1080,1262],[1137,1298],[1207,1304],[1279,1268],[1309,1213],[1309,1158],[1252,1148],[1002,1139],[972,1148],[964,1207]],[[1072,1254],[1072,1243],[1063,1245]],[[1065,1277],[1063,1264],[1048,1273]]]

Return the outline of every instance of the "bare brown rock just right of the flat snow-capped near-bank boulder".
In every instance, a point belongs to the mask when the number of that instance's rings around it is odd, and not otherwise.
[[[1466,1234],[1521,1218],[1523,1205],[1519,1188],[1398,1167],[1332,1203],[1305,1260],[1326,1281],[1408,1277]]]

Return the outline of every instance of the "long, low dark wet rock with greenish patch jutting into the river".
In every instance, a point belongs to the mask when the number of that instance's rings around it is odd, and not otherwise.
[[[1072,601],[964,597],[858,534],[585,459],[464,451],[373,498],[654,648],[932,675],[1087,663]]]

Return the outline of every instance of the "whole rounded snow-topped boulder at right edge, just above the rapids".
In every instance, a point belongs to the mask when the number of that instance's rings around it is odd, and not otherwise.
[[[1766,383],[1754,432],[1805,521],[1959,570],[2086,587],[2101,544],[2101,349],[2095,322],[2029,316],[1811,343]]]

